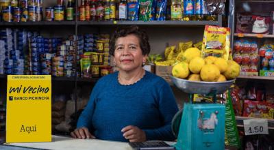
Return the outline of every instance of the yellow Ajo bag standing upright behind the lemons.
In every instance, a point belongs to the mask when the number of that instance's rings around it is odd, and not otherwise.
[[[214,56],[228,60],[229,34],[229,28],[206,25],[203,34],[201,57]]]

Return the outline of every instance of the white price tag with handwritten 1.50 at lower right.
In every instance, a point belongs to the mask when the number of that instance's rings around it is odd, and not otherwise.
[[[244,120],[245,135],[269,134],[267,119],[246,119]]]

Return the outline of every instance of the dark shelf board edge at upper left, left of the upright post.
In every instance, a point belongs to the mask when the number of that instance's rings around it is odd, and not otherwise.
[[[28,21],[28,22],[0,22],[1,26],[27,26],[27,25],[75,25],[75,21]]]

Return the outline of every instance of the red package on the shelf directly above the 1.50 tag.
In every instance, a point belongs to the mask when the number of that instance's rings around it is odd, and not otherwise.
[[[245,100],[242,116],[273,119],[273,115],[274,104],[269,102]]]

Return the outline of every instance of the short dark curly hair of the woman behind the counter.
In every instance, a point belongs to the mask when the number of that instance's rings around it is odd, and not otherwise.
[[[110,55],[114,56],[116,40],[119,37],[126,37],[127,35],[136,35],[139,40],[140,48],[142,50],[142,55],[149,55],[150,45],[149,36],[145,31],[139,29],[138,26],[130,26],[123,29],[117,29],[112,37],[110,38]]]

